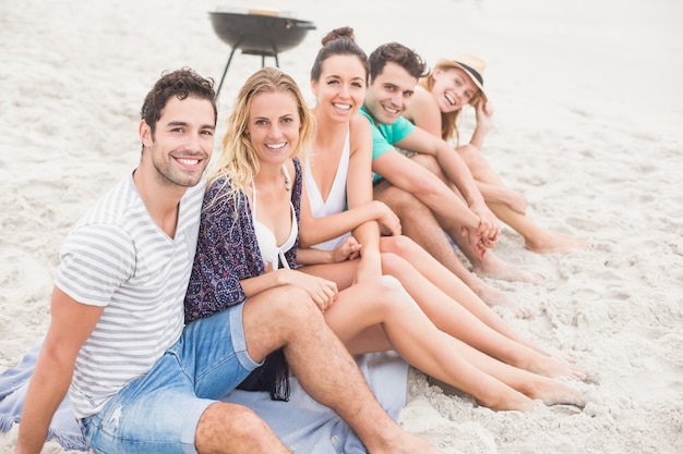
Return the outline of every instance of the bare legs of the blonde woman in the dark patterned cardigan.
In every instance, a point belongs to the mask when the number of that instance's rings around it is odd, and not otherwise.
[[[550,404],[582,400],[578,390],[505,365],[440,331],[395,278],[346,289],[325,320],[352,354],[391,344],[412,366],[493,409],[531,409],[534,403],[523,394]]]

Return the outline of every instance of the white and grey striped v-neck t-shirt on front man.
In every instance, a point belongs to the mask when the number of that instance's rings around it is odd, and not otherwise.
[[[180,338],[204,188],[202,182],[185,192],[170,238],[149,217],[131,174],[62,245],[57,286],[79,303],[105,307],[76,358],[70,397],[77,418],[98,413]]]

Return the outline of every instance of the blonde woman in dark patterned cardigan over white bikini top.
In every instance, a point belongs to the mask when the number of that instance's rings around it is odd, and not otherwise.
[[[338,291],[334,281],[295,269],[298,157],[313,137],[312,119],[295,82],[276,69],[252,75],[233,109],[209,176],[185,300],[190,319],[244,299],[249,310],[250,299],[296,286],[352,354],[395,348],[415,367],[494,409],[529,410],[534,400],[580,403],[576,389],[508,366],[439,330],[396,279],[368,278]]]

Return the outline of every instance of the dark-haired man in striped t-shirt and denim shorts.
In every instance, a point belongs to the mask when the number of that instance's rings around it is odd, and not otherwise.
[[[15,453],[40,452],[68,390],[96,452],[288,453],[252,410],[219,401],[280,347],[307,391],[371,453],[436,453],[381,408],[303,290],[283,286],[267,304],[184,326],[216,116],[213,82],[188,69],[164,75],[147,95],[137,169],[61,248]]]

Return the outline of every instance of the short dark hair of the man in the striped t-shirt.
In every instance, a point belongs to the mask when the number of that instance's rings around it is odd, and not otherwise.
[[[214,81],[204,78],[189,68],[182,68],[172,72],[161,74],[156,84],[152,87],[145,101],[142,105],[140,116],[147,123],[154,134],[156,123],[164,113],[164,108],[171,97],[185,99],[193,96],[200,99],[211,101],[214,107],[214,124],[218,120],[218,110],[216,109],[216,91],[214,90]]]

